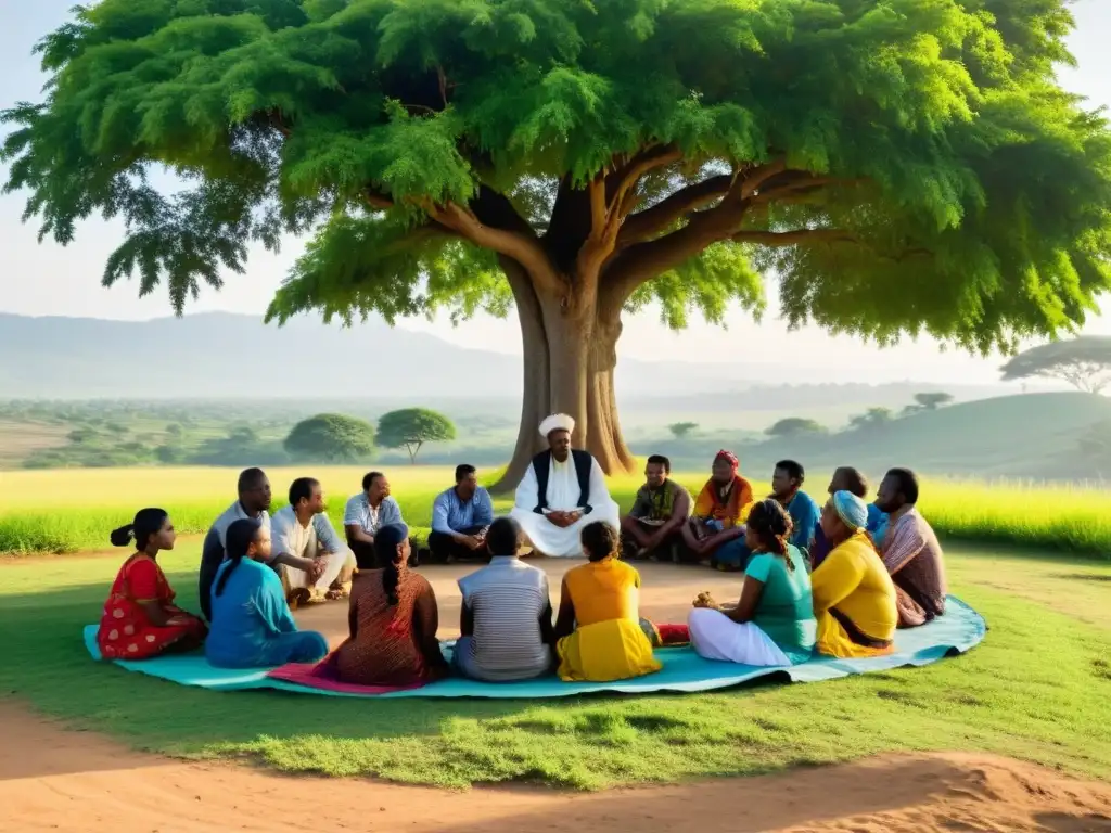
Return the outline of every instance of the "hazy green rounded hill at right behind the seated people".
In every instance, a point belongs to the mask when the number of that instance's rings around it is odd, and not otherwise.
[[[957,404],[878,430],[763,442],[743,455],[750,471],[793,458],[814,471],[855,465],[878,474],[907,465],[978,478],[1102,479],[1111,476],[1111,460],[1080,451],[1080,439],[1097,425],[1111,434],[1111,399],[1031,393]]]

